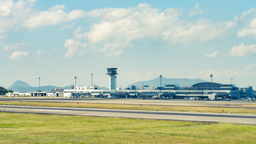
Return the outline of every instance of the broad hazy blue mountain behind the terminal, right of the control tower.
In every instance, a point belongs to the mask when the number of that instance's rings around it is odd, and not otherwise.
[[[179,84],[180,87],[185,86],[185,79],[186,79],[186,86],[192,86],[193,84],[197,84],[200,82],[207,82],[206,80],[201,80],[199,78],[196,79],[188,79],[188,78],[162,78],[162,86],[164,84]],[[149,87],[153,86],[160,86],[160,78],[155,78],[153,80],[146,80],[146,81],[140,81],[140,82],[135,82],[132,84],[129,84],[127,87],[130,86],[138,86],[139,88],[142,88],[142,84],[148,85]]]

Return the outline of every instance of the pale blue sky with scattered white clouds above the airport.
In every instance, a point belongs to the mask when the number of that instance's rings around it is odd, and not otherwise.
[[[165,78],[256,86],[254,0],[0,0],[0,86]]]

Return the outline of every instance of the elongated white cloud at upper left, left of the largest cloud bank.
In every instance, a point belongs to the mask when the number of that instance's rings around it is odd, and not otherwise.
[[[85,12],[82,10],[72,10],[71,12],[66,13],[63,11],[64,8],[64,5],[57,4],[47,11],[37,12],[36,14],[25,19],[22,26],[35,28],[37,26],[56,25],[85,16]]]

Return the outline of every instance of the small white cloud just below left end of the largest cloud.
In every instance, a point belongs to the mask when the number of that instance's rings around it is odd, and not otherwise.
[[[64,58],[71,58],[79,51],[79,54],[84,53],[84,49],[88,46],[87,43],[78,42],[74,39],[66,39],[64,47],[68,48]]]

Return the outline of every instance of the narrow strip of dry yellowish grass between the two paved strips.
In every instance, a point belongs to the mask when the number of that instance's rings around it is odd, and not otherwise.
[[[202,106],[159,106],[138,104],[96,104],[96,103],[72,103],[72,102],[29,102],[29,101],[0,101],[0,104],[28,105],[28,106],[63,106],[82,108],[117,108],[134,110],[169,110],[187,112],[222,112],[222,113],[245,113],[256,114],[255,108],[221,108]],[[223,110],[223,111],[222,111]]]

